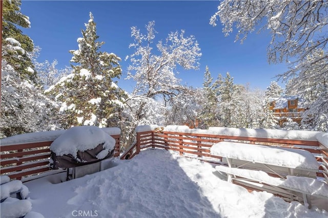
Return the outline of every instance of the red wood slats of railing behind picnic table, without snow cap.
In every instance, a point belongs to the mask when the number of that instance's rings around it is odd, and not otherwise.
[[[328,149],[318,141],[258,138],[244,136],[227,136],[204,133],[159,132],[148,130],[137,133],[137,141],[121,156],[121,159],[131,159],[148,147],[163,148],[177,151],[180,155],[197,158],[203,161],[221,163],[221,157],[211,155],[210,149],[214,143],[221,141],[236,141],[266,146],[277,146],[310,151],[321,165],[318,177],[328,181]]]

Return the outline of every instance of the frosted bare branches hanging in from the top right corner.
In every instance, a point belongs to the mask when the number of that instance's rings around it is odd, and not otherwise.
[[[272,39],[268,46],[270,63],[288,61],[290,70],[278,75],[283,80],[297,76],[300,64],[315,50],[322,50],[323,56],[313,59],[315,66],[321,60],[328,63],[328,2],[312,1],[222,1],[218,11],[211,17],[210,24],[216,26],[217,17],[228,36],[237,28],[236,41],[245,40],[256,27],[269,29]],[[310,68],[310,65],[302,66]]]

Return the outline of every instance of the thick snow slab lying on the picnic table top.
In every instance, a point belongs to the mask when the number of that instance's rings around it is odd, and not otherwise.
[[[219,142],[211,147],[211,154],[289,168],[319,169],[316,158],[309,151],[301,149]]]

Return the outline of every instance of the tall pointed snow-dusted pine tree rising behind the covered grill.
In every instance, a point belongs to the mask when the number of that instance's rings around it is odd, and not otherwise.
[[[121,75],[121,60],[113,53],[100,52],[92,13],[71,50],[73,73],[51,86],[47,93],[58,103],[58,120],[64,128],[78,125],[119,126],[127,97],[113,81]]]

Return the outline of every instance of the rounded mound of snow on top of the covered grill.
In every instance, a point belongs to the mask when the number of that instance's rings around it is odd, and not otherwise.
[[[77,151],[93,149],[102,143],[105,149],[113,150],[116,141],[97,126],[74,126],[53,141],[50,150],[57,156],[70,154],[76,158]]]

